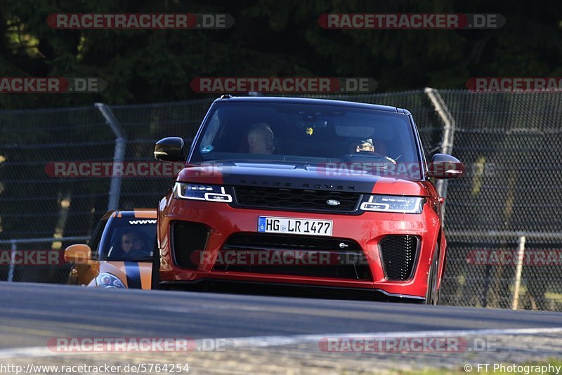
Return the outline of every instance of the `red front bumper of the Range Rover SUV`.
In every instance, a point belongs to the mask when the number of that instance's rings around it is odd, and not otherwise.
[[[302,213],[275,210],[235,209],[224,203],[197,202],[174,199],[166,195],[160,202],[158,213],[158,237],[161,254],[160,277],[162,284],[198,282],[248,282],[252,284],[281,284],[292,286],[354,289],[370,291],[391,298],[400,296],[414,299],[425,298],[427,276],[437,240],[440,221],[429,204],[421,214],[367,212],[358,216],[327,213]],[[204,251],[214,259],[227,239],[240,232],[256,233],[259,216],[281,216],[332,220],[332,237],[357,242],[367,258],[372,280],[340,279],[335,277],[311,277],[302,275],[272,275],[251,272],[214,270],[212,261],[202,262],[195,269],[178,266],[174,258],[171,224],[177,221],[200,223],[208,228]],[[412,277],[405,281],[386,279],[382,265],[379,242],[388,235],[413,235],[420,239],[420,246]]]

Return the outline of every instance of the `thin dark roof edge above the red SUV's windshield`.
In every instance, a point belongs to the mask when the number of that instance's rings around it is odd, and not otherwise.
[[[289,103],[289,104],[309,104],[309,105],[337,105],[339,107],[349,108],[362,108],[365,110],[379,110],[386,112],[401,112],[396,107],[390,105],[379,105],[369,103],[349,102],[346,100],[333,100],[333,99],[315,99],[315,98],[289,98],[281,96],[230,96],[223,95],[218,98],[214,103]]]

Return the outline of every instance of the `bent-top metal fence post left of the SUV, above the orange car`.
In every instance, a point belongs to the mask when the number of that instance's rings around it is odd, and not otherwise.
[[[94,103],[102,116],[105,118],[107,125],[110,126],[113,133],[115,133],[115,152],[113,153],[113,175],[111,178],[109,201],[107,202],[107,211],[112,211],[119,208],[119,196],[121,195],[121,179],[122,176],[117,176],[115,173],[115,165],[122,163],[125,157],[126,138],[121,131],[119,121],[111,111],[110,107],[103,103]]]

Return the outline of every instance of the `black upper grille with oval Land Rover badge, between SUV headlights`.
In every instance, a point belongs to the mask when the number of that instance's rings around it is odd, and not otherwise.
[[[358,209],[361,195],[355,192],[329,192],[321,190],[296,190],[275,187],[236,186],[238,206],[291,211],[326,211],[351,213]],[[339,202],[330,206],[327,201]]]

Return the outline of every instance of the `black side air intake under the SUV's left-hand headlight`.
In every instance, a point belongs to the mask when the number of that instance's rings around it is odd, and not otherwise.
[[[200,223],[175,221],[171,224],[171,237],[174,244],[174,259],[181,268],[195,269],[200,254],[205,249],[209,231]]]

